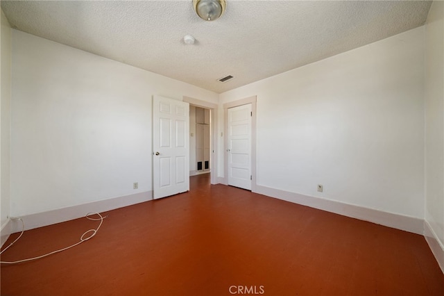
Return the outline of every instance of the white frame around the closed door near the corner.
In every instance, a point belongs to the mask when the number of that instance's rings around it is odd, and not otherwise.
[[[228,109],[251,104],[251,192],[256,191],[256,101],[257,97],[248,97],[223,104],[223,184],[228,185]]]

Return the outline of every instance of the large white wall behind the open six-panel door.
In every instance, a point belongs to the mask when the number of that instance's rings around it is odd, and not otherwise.
[[[152,190],[153,94],[218,100],[194,85],[16,30],[12,65],[17,216]]]

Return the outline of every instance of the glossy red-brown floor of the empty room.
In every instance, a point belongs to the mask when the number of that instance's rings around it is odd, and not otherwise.
[[[444,295],[422,236],[210,186],[208,175],[191,177],[190,192],[104,215],[78,247],[2,265],[1,295]],[[98,223],[26,231],[1,260],[71,245]]]

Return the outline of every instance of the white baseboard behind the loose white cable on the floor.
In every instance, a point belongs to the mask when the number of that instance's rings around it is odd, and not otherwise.
[[[21,216],[25,222],[25,230],[44,227],[51,224],[74,220],[85,217],[89,212],[103,213],[124,206],[131,206],[141,202],[147,202],[153,199],[153,191],[139,192],[133,195],[125,195],[122,197],[114,197],[112,199],[104,199],[99,202],[91,202],[88,204],[80,204],[78,206],[69,206],[67,208],[59,208],[57,210],[46,211],[31,215]],[[22,224],[9,223],[10,233],[22,231]],[[2,235],[3,238],[3,235]]]

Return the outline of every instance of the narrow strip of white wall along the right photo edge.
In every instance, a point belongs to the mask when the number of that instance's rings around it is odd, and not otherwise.
[[[441,245],[444,271],[444,2],[434,1],[426,24],[425,221]],[[426,235],[427,235],[426,225]],[[430,243],[430,241],[429,241]],[[431,245],[434,250],[433,245]],[[438,246],[436,246],[438,249]],[[442,258],[441,258],[442,257]],[[441,259],[440,259],[441,258]]]

